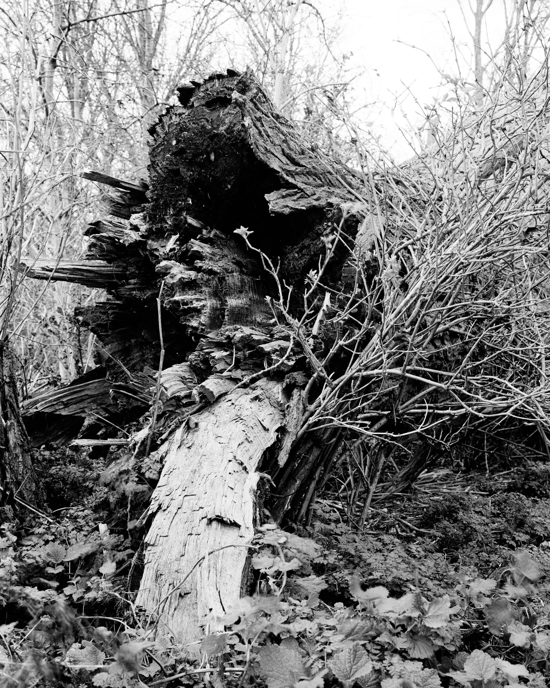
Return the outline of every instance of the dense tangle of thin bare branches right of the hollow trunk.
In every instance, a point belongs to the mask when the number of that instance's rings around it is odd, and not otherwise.
[[[300,320],[267,266],[274,314],[314,372],[300,433],[344,431],[336,461],[366,495],[361,522],[388,460],[395,488],[438,456],[487,470],[550,456],[546,76],[503,78],[481,112],[457,106],[437,142],[399,169],[371,173],[362,156],[364,195],[343,213],[365,219],[355,244],[341,227],[329,237]],[[342,247],[335,289],[324,278]]]

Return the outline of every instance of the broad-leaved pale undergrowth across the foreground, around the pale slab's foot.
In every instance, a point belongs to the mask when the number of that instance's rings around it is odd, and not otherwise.
[[[2,685],[546,685],[549,620],[535,611],[541,570],[521,550],[489,577],[450,572],[447,592],[430,596],[415,583],[399,596],[365,587],[349,570],[342,601],[329,603],[330,574],[314,572],[326,552],[266,524],[253,544],[256,594],[184,647],[161,632],[154,610],[131,603],[121,572],[132,552],[122,538],[94,526],[90,512],[78,525],[65,519],[24,537],[3,526]]]

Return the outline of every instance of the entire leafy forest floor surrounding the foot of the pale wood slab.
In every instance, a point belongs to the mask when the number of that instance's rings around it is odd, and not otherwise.
[[[309,526],[261,528],[256,595],[184,648],[131,602],[146,484],[100,453],[40,459],[52,519],[1,526],[0,685],[547,685],[547,463],[381,484],[363,528],[335,482]]]

